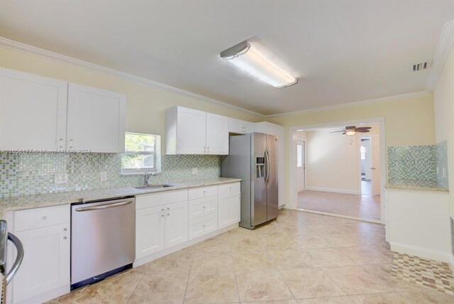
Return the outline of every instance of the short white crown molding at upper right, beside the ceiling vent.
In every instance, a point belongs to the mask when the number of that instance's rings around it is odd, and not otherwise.
[[[438,40],[437,50],[433,56],[431,72],[428,75],[426,89],[433,90],[440,77],[445,62],[448,59],[451,48],[454,45],[454,20],[445,23],[441,32],[440,40]]]

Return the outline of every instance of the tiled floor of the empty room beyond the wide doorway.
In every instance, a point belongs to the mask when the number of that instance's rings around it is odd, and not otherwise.
[[[380,195],[372,197],[370,181],[361,181],[362,194],[306,190],[298,193],[298,208],[380,221]]]

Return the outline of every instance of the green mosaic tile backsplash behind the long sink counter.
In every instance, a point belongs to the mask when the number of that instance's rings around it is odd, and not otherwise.
[[[161,156],[161,173],[150,183],[217,178],[220,156]],[[142,185],[143,175],[121,175],[121,154],[0,154],[0,197]],[[197,168],[197,174],[192,174]],[[99,181],[101,171],[107,180]],[[68,183],[55,184],[56,172],[67,172]]]

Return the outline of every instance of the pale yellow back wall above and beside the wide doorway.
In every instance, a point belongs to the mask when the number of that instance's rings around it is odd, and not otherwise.
[[[350,102],[350,101],[345,101]],[[435,143],[433,122],[433,99],[431,94],[407,99],[390,100],[377,104],[365,104],[306,114],[292,114],[270,117],[268,121],[285,126],[286,156],[289,155],[289,128],[327,124],[335,121],[351,121],[360,119],[384,118],[384,135],[386,146],[428,145]],[[301,128],[304,129],[304,128]],[[286,167],[289,169],[289,158]],[[385,168],[382,168],[385,170]],[[286,176],[287,195],[289,202],[289,175]]]

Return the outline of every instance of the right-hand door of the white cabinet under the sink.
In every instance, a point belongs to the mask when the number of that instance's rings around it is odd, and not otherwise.
[[[187,202],[165,205],[165,248],[187,241]]]

